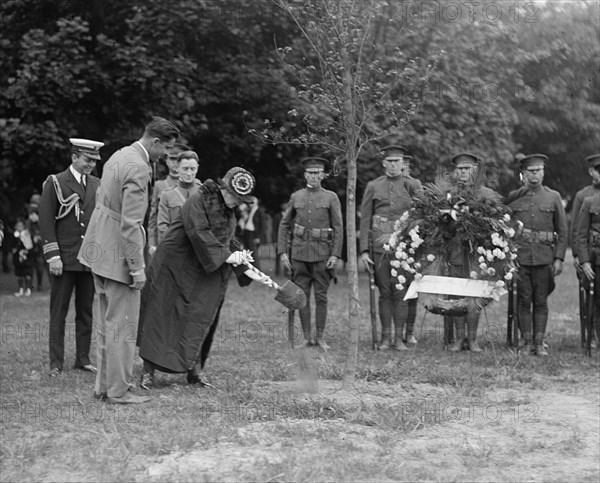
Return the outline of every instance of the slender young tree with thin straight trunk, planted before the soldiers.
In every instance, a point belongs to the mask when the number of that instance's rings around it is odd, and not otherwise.
[[[429,62],[408,62],[398,46],[400,32],[381,42],[387,2],[322,0],[312,5],[280,1],[309,51],[280,47],[298,97],[287,115],[251,132],[266,142],[312,147],[333,158],[333,173],[345,171],[348,262],[348,340],[345,383],[352,382],[358,356],[358,266],[356,184],[359,156],[396,132],[414,115],[419,99],[403,99],[404,83],[426,79]],[[300,129],[299,129],[300,128]]]

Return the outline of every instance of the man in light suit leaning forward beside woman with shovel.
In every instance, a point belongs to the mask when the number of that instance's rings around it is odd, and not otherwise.
[[[146,282],[143,223],[148,208],[150,161],[168,154],[179,130],[153,117],[139,141],[106,162],[96,208],[79,259],[94,274],[98,293],[98,373],[94,396],[112,404],[150,400],[129,392],[140,311]]]

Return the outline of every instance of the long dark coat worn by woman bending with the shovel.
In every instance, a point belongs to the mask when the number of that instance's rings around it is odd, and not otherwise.
[[[218,185],[207,180],[191,196],[158,246],[142,291],[140,357],[166,372],[206,362],[232,267],[236,219]],[[240,285],[250,279],[234,269]]]

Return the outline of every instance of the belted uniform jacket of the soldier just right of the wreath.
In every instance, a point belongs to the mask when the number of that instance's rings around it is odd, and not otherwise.
[[[567,216],[557,191],[546,186],[531,191],[511,191],[506,204],[513,217],[523,223],[517,239],[518,259],[523,266],[549,265],[555,258],[564,260],[567,249]]]

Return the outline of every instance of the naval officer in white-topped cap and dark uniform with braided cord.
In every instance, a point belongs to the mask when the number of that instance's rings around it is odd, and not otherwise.
[[[99,179],[90,173],[104,143],[70,139],[71,165],[44,182],[39,206],[42,251],[50,266],[50,376],[62,373],[65,358],[65,319],[75,289],[75,368],[96,372],[90,362],[94,279],[77,253],[96,204]]]

